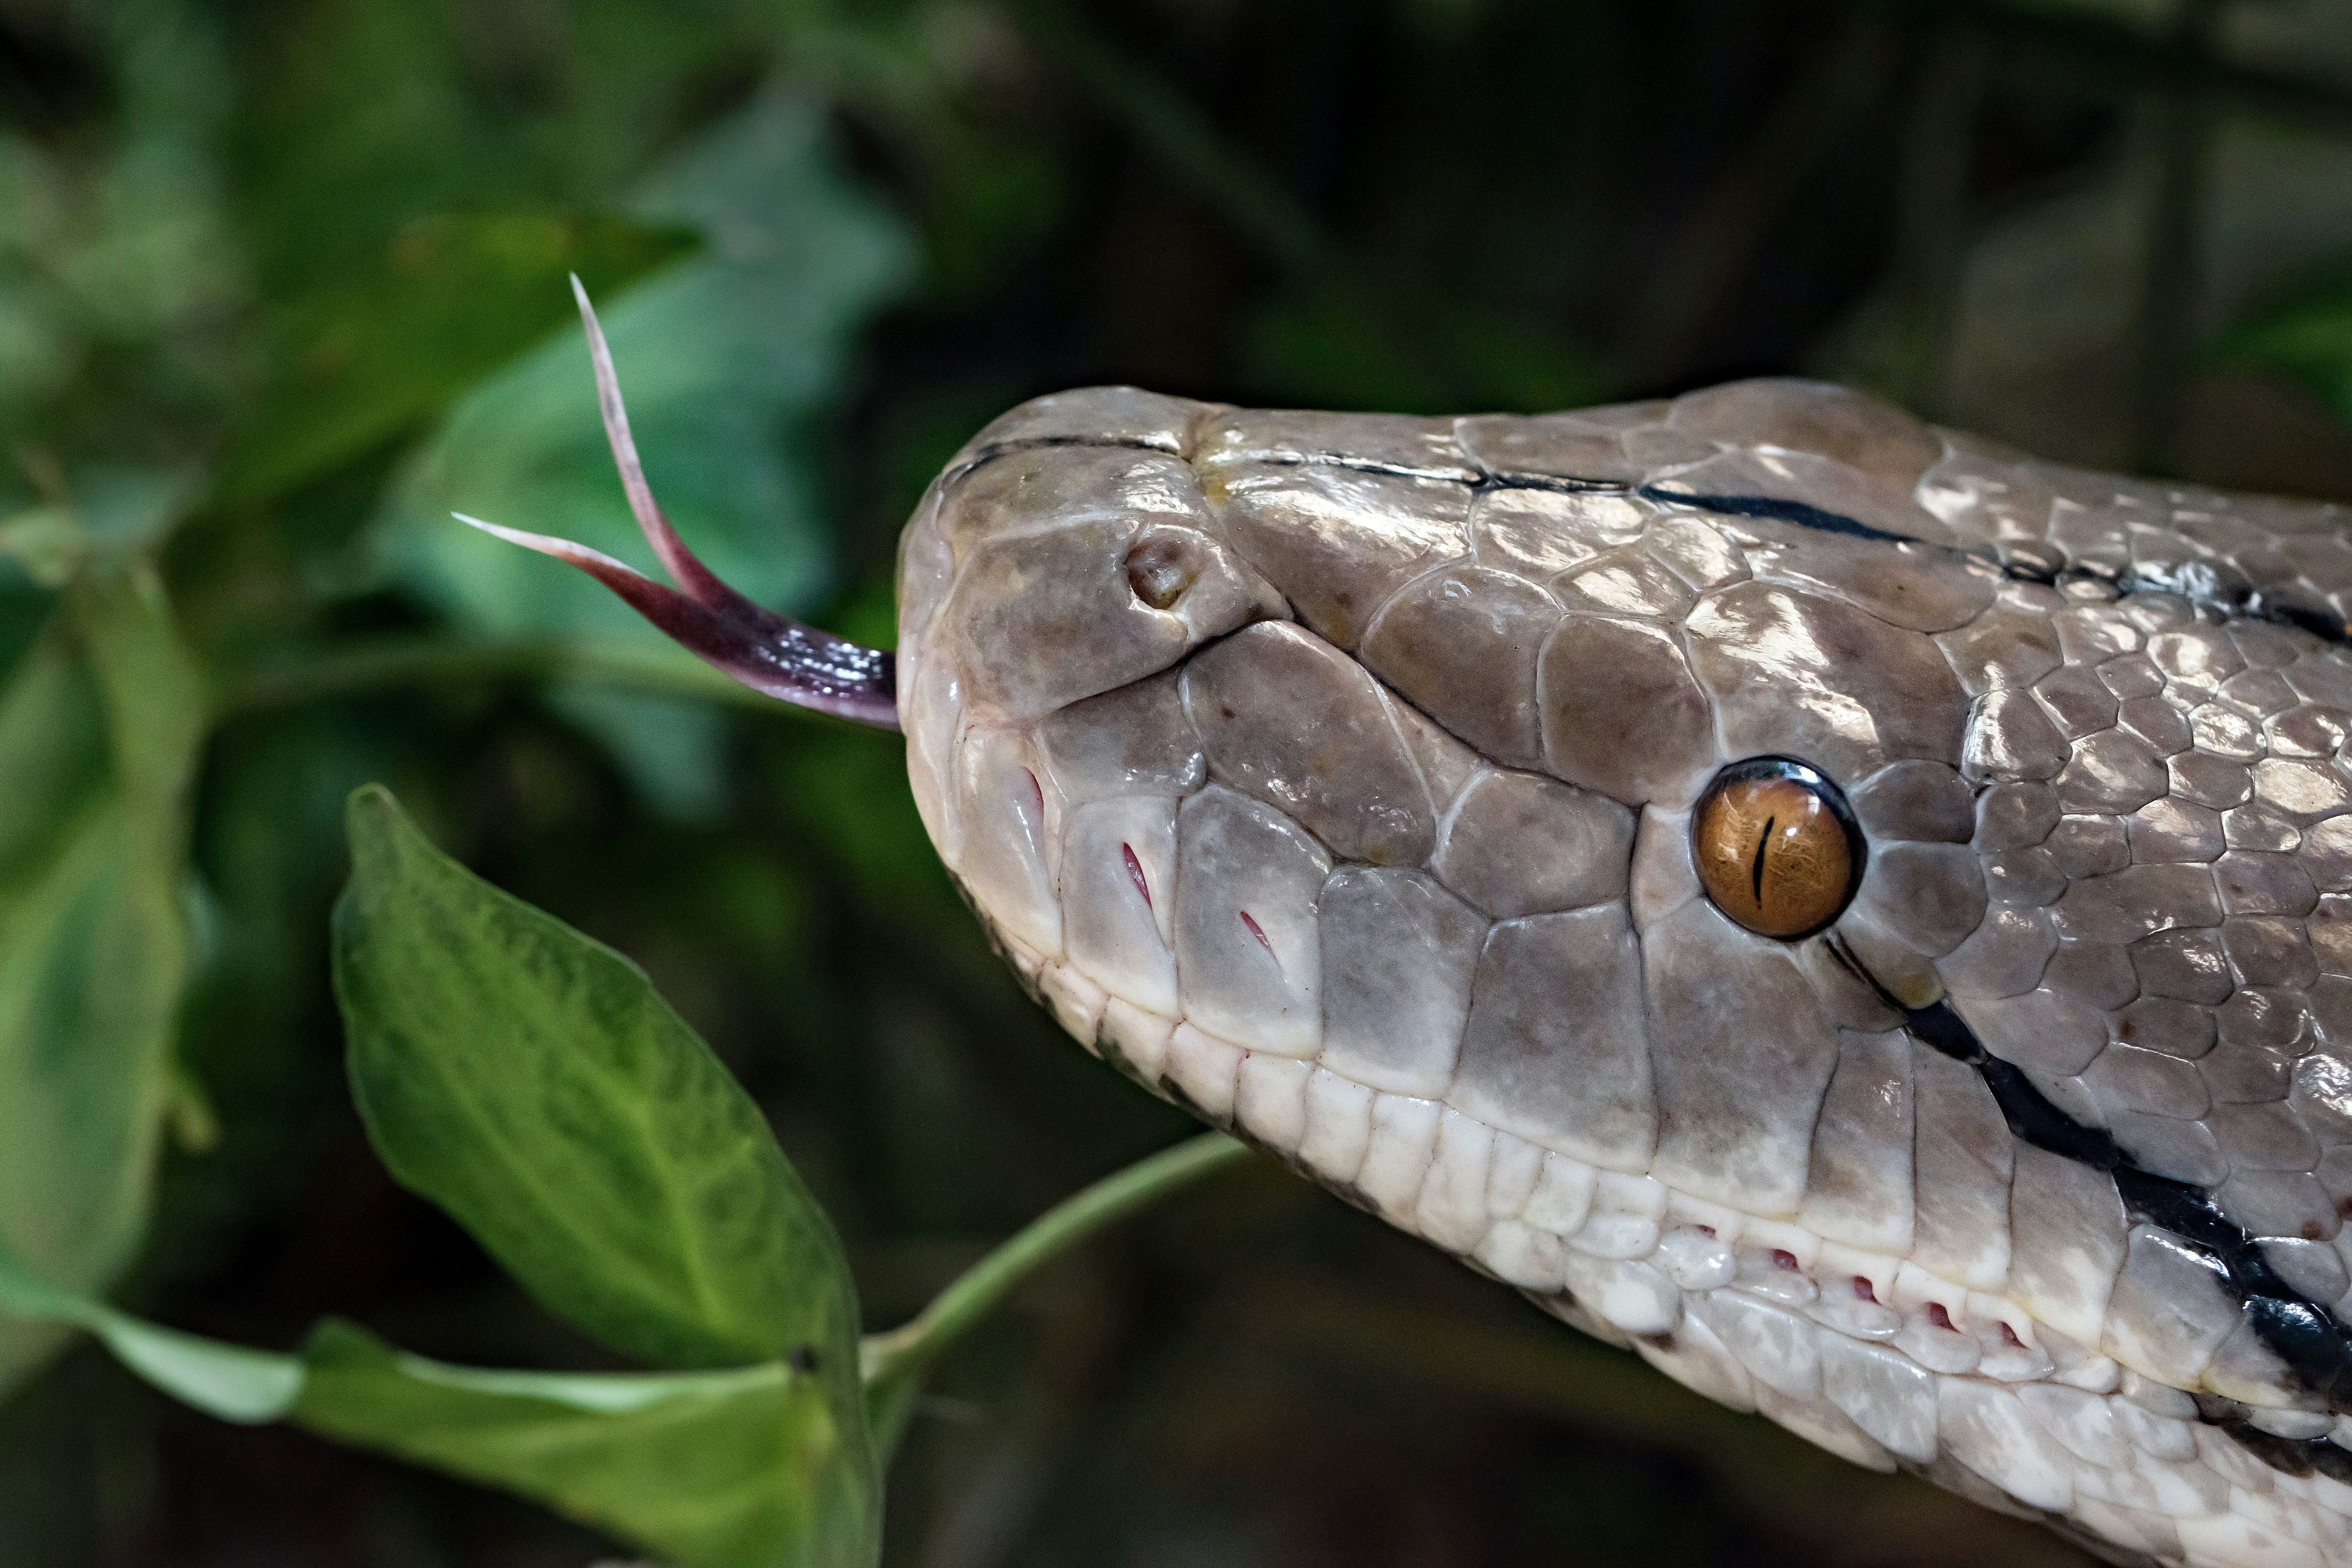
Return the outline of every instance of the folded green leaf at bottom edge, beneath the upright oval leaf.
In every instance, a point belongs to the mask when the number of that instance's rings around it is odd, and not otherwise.
[[[480,1373],[348,1324],[325,1324],[303,1359],[303,1427],[539,1497],[680,1568],[875,1561],[863,1418],[823,1368]]]

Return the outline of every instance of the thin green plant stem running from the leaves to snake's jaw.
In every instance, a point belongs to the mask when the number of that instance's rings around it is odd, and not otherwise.
[[[1030,1274],[1094,1232],[1117,1225],[1145,1204],[1188,1187],[1214,1171],[1240,1164],[1249,1145],[1223,1133],[1202,1133],[1150,1159],[1115,1171],[1084,1192],[1054,1204],[1009,1241],[964,1269],[908,1324],[866,1335],[861,1352],[866,1387],[908,1378],[988,1316]]]

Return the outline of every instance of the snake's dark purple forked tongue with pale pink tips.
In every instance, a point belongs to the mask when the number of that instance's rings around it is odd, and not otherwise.
[[[661,557],[661,567],[677,588],[656,583],[635,567],[569,538],[501,529],[463,512],[452,515],[508,543],[572,562],[628,599],[630,609],[668,632],[689,654],[753,691],[854,724],[898,729],[898,661],[889,651],[868,649],[753,604],[694,559],[694,552],[677,538],[677,529],[661,515],[661,505],[654,503],[654,491],[644,482],[637,442],[628,433],[628,409],[621,407],[621,381],[612,369],[612,350],[604,346],[604,329],[597,324],[588,289],[581,287],[579,277],[572,280],[572,296],[588,327],[597,409],[604,416],[612,461],[621,470],[621,489],[628,491],[628,510],[637,517],[644,541],[654,545],[654,555]]]

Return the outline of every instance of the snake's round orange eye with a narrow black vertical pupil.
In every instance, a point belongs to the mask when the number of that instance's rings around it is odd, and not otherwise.
[[[1691,853],[1717,910],[1790,943],[1837,919],[1863,879],[1863,830],[1846,799],[1785,757],[1715,776],[1691,813]]]

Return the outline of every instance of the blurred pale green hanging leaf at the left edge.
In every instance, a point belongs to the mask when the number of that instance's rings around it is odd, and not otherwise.
[[[195,670],[143,567],[94,562],[0,689],[0,1246],[75,1291],[136,1251],[188,978]],[[54,1328],[0,1328],[0,1387]]]

